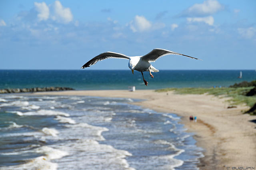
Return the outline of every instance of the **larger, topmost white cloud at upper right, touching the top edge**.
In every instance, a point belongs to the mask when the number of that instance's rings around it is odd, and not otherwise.
[[[202,16],[209,16],[212,14],[215,14],[216,12],[224,9],[224,6],[222,6],[217,0],[206,0],[202,4],[194,4],[180,16],[185,17],[202,17]]]

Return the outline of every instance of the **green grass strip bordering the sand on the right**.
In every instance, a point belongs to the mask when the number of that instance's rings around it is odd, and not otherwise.
[[[256,96],[245,96],[254,87],[241,88],[165,88],[156,90],[156,92],[174,91],[176,94],[212,94],[218,97],[231,97],[230,104],[246,104],[252,107],[256,102]]]

